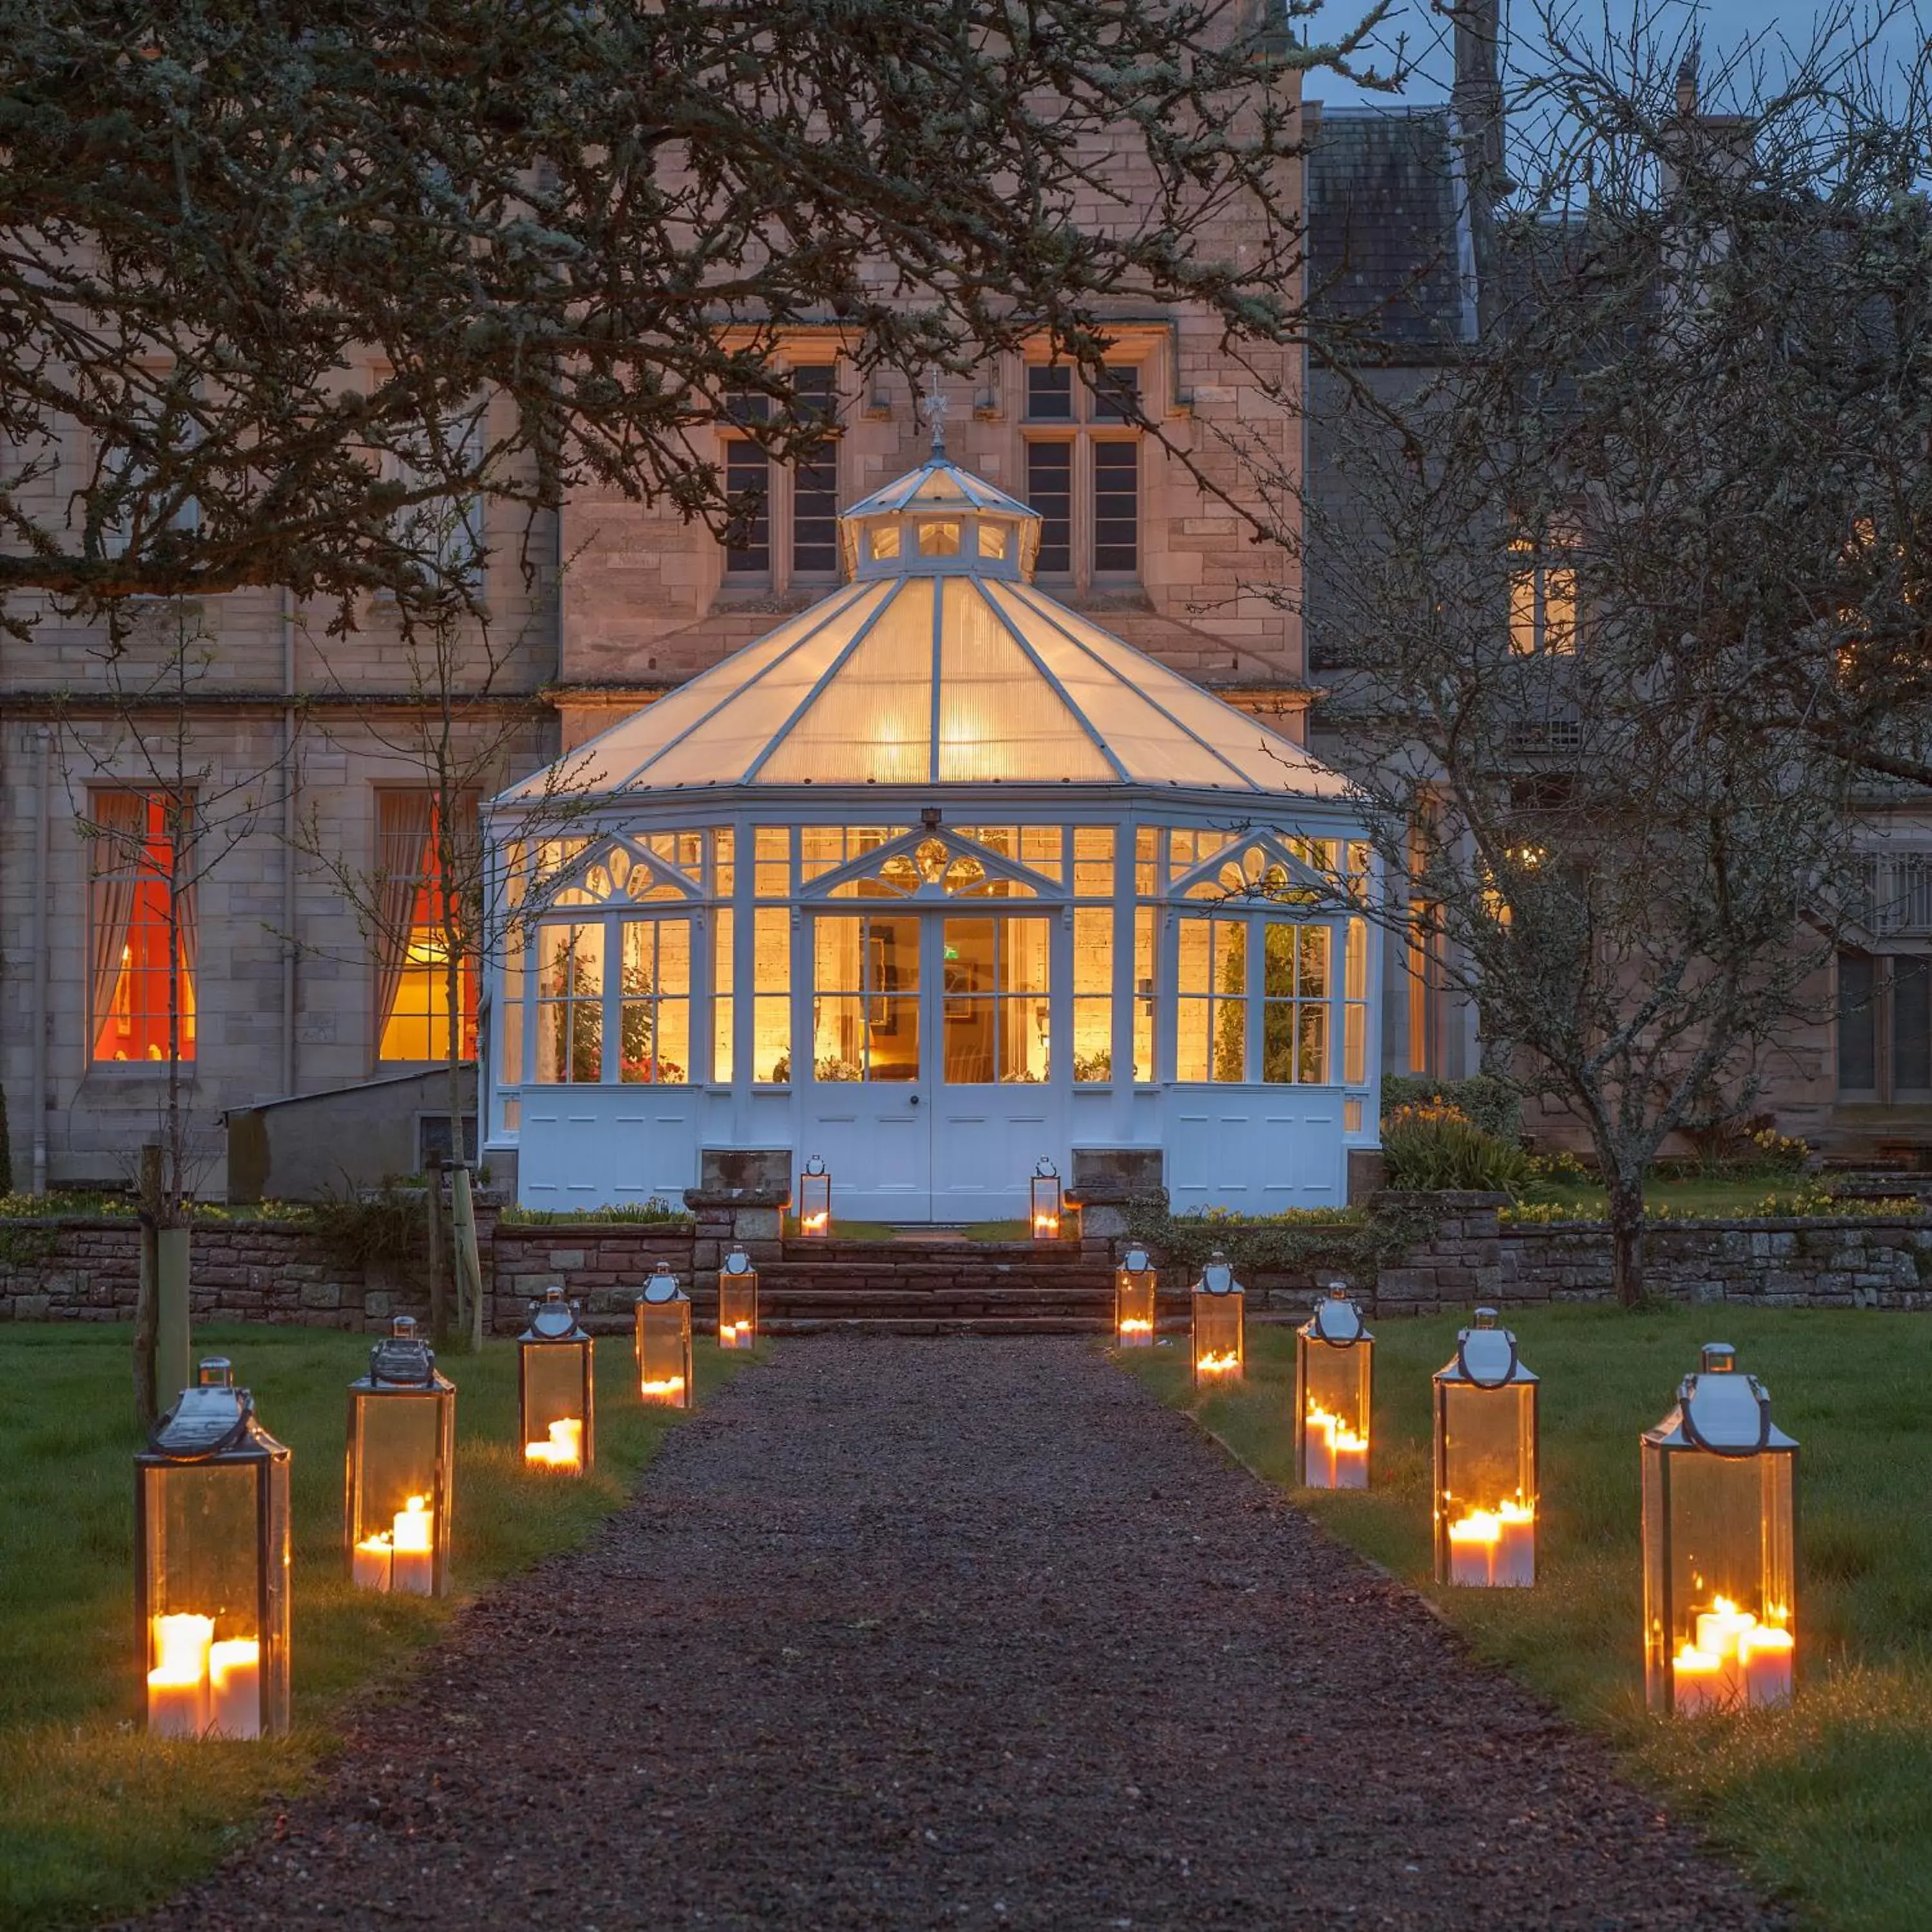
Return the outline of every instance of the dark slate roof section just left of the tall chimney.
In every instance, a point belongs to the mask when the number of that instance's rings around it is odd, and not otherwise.
[[[1325,108],[1308,156],[1308,288],[1366,332],[1364,357],[1428,361],[1459,340],[1461,172],[1449,108]]]

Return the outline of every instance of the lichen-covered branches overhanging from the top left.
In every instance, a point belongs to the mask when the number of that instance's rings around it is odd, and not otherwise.
[[[862,369],[1097,375],[1144,301],[1294,342],[1296,83],[1381,6],[1312,12],[0,0],[6,618],[278,585],[354,628],[437,587],[396,531],[448,500],[526,566],[574,489],[723,527],[728,394],[781,458],[829,431],[798,323]]]

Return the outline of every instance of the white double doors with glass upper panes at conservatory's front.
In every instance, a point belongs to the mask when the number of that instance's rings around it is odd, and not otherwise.
[[[1034,1163],[1066,1167],[1061,914],[869,902],[808,923],[798,1153],[823,1155],[835,1215],[1024,1215]]]

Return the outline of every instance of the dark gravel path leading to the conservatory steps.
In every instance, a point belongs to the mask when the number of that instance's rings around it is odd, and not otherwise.
[[[151,1928],[1768,1924],[1078,1341],[784,1345]]]

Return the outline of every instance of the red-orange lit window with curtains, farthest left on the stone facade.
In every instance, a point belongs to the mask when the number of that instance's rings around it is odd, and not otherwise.
[[[195,1057],[195,895],[172,891],[176,852],[191,846],[187,813],[164,792],[95,792],[85,833],[93,1057],[166,1061],[170,1007],[180,1059]],[[172,900],[172,908],[170,908]],[[180,970],[170,976],[170,937]],[[170,997],[172,993],[172,997]]]

